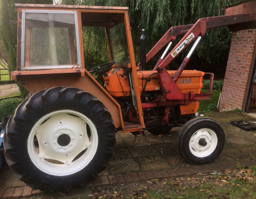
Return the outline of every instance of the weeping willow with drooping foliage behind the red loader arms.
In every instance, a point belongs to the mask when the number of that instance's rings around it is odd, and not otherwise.
[[[62,3],[129,7],[135,54],[139,55],[140,32],[137,30],[138,25],[146,29],[147,50],[149,51],[171,26],[193,24],[199,18],[223,15],[222,9],[225,6],[236,4],[240,1],[241,0],[62,0]],[[178,37],[177,40],[179,38],[180,37]],[[201,62],[203,62],[204,69],[205,65],[207,65],[209,70],[210,68],[216,68],[215,66],[218,66],[225,71],[230,42],[231,34],[228,28],[224,27],[208,30],[206,37],[197,48],[198,50],[194,57],[197,57],[197,61],[201,60]],[[208,45],[208,43],[210,43],[210,45]],[[213,49],[215,49],[215,51],[221,51],[221,54],[218,53],[217,56],[219,59],[216,59],[216,57],[214,59],[212,53]],[[186,51],[183,52],[183,55],[184,53],[186,53]],[[136,58],[137,61],[139,61],[139,57]],[[181,60],[182,56],[179,56],[178,60],[174,60],[172,65],[177,68]],[[154,66],[155,62],[152,64]],[[216,70],[216,72],[218,71],[219,70]]]

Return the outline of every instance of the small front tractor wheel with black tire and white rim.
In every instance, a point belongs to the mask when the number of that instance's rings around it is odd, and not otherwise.
[[[178,135],[181,155],[192,164],[206,164],[214,161],[222,152],[225,134],[221,126],[207,117],[188,121]]]

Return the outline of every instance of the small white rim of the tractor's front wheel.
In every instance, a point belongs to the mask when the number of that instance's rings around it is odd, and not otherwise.
[[[201,140],[201,141],[200,141]],[[206,144],[202,145],[202,141]],[[189,141],[190,152],[197,157],[206,157],[212,154],[218,143],[216,133],[209,128],[202,128],[195,132]],[[200,145],[201,144],[201,145]]]

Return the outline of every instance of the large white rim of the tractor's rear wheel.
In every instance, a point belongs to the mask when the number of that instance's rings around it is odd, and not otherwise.
[[[35,137],[38,144],[34,141]],[[36,122],[28,136],[31,161],[50,175],[63,176],[80,171],[90,163],[97,147],[95,125],[88,117],[73,110],[53,111],[45,115]]]

